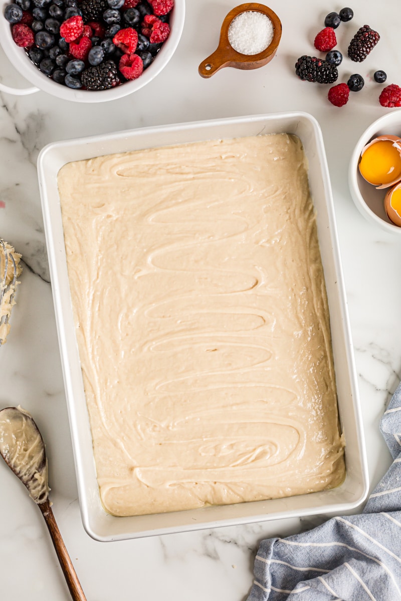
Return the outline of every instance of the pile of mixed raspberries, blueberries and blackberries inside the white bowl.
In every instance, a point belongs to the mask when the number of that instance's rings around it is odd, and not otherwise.
[[[108,90],[138,78],[170,34],[174,0],[14,0],[17,46],[57,84]]]

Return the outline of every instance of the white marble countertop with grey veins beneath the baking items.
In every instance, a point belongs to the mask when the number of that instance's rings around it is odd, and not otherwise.
[[[283,37],[277,56],[254,71],[223,69],[201,79],[198,64],[216,47],[230,0],[188,0],[186,25],[176,54],[165,70],[132,96],[104,105],[69,103],[37,93],[0,94],[0,236],[23,255],[25,269],[7,345],[0,350],[0,407],[21,404],[31,411],[47,444],[54,513],[88,601],[164,599],[217,601],[245,599],[253,558],[262,538],[295,534],[325,516],[219,528],[114,543],[99,543],[84,531],[70,442],[63,377],[55,329],[51,285],[38,191],[40,149],[59,139],[133,127],[265,112],[301,110],[320,123],[343,259],[350,325],[367,440],[371,488],[390,464],[379,420],[401,376],[401,278],[397,257],[401,236],[384,233],[355,209],[347,185],[347,165],[363,130],[389,110],[379,105],[382,85],[372,81],[383,69],[387,83],[401,85],[399,2],[354,0],[355,17],[336,30],[346,53],[358,27],[368,23],[381,41],[362,64],[344,58],[340,81],[364,76],[360,93],[335,108],[328,87],[300,82],[294,64],[314,54],[314,35],[339,4],[317,0],[270,0],[280,16]],[[2,81],[21,78],[0,50]],[[40,512],[26,490],[0,465],[0,560],[2,599],[69,599]]]

